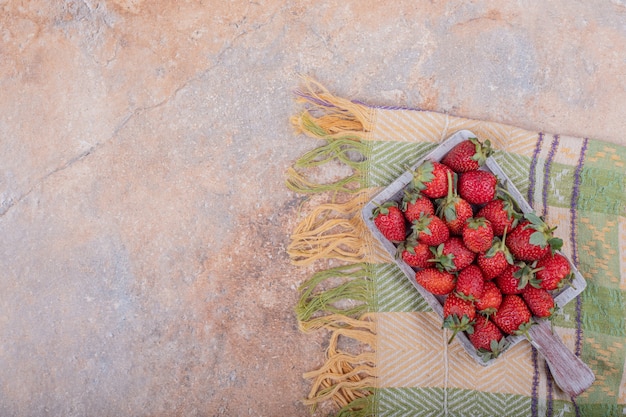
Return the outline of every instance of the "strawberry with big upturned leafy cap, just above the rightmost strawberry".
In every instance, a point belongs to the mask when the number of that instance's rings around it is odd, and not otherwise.
[[[518,224],[506,238],[506,245],[515,259],[537,261],[550,251],[556,251],[563,240],[554,237],[556,227],[549,227],[534,213],[524,214],[526,220]]]

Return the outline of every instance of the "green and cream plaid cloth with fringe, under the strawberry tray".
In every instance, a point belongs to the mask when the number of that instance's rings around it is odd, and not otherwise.
[[[626,147],[498,123],[369,106],[305,80],[298,134],[323,140],[287,172],[314,196],[288,253],[315,272],[300,287],[305,332],[330,334],[325,363],[305,374],[306,403],[332,400],[342,416],[622,416],[626,414]],[[525,341],[489,367],[447,344],[432,312],[370,236],[360,209],[459,130],[489,139],[494,157],[534,210],[556,225],[587,288],[555,331],[596,375],[569,398]],[[327,164],[346,175],[327,182]],[[342,170],[341,166],[345,166]]]

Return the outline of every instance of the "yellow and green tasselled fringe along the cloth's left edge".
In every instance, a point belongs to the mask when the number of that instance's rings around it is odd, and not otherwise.
[[[304,403],[315,408],[322,401],[332,400],[341,408],[339,416],[365,417],[374,412],[375,396],[372,394],[377,377],[375,316],[366,312],[372,300],[367,264],[389,262],[390,258],[371,237],[361,218],[362,207],[376,191],[365,189],[363,183],[367,162],[354,161],[350,154],[356,152],[366,157],[362,141],[372,129],[373,109],[336,97],[311,79],[305,78],[304,85],[296,95],[307,108],[291,122],[296,133],[324,139],[327,143],[304,155],[287,172],[287,186],[301,193],[352,195],[345,202],[333,201],[313,209],[295,228],[287,248],[292,262],[298,266],[309,266],[324,259],[347,264],[319,272],[300,288],[302,297],[296,307],[300,329],[331,332],[325,364],[304,374],[304,378],[313,380]],[[332,184],[318,184],[302,174],[303,170],[330,160],[347,164],[353,169],[353,175]],[[318,284],[328,282],[329,278],[343,282],[315,293]],[[350,300],[353,307],[335,306],[346,300]],[[342,352],[338,347],[341,337],[361,342],[363,352]]]

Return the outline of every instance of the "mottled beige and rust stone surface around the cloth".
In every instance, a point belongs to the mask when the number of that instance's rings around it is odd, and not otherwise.
[[[625,21],[619,0],[0,0],[0,414],[308,415],[298,74],[625,143]]]

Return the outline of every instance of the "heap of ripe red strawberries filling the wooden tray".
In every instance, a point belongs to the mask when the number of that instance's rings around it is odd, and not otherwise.
[[[373,212],[415,280],[443,300],[450,341],[465,332],[485,361],[502,352],[506,335],[528,337],[533,320],[552,318],[554,292],[572,279],[556,228],[522,214],[479,169],[492,153],[489,141],[465,140],[418,166],[401,203]]]

